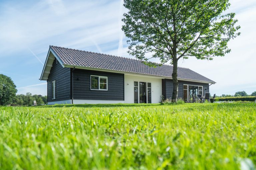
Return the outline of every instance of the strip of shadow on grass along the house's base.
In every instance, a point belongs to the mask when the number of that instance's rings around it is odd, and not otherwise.
[[[140,104],[123,104],[123,103],[118,103],[118,104],[56,104],[56,105],[47,105],[47,106],[34,106],[37,108],[69,108],[69,107],[81,107],[81,108],[99,108],[99,107],[148,107],[148,106],[160,106],[160,104],[145,104],[145,103],[140,103]]]

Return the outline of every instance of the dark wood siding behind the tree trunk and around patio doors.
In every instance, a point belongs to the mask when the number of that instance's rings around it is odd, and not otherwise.
[[[178,85],[178,99],[183,99],[183,84],[188,85],[196,85],[196,86],[203,86],[203,95],[205,96],[205,93],[209,90],[209,84],[208,83],[198,83],[198,82],[191,82],[191,81],[181,81],[179,80]],[[164,79],[162,80],[162,87],[165,86],[165,91],[163,91],[163,95],[165,98],[172,98],[172,92],[173,92],[173,81],[172,79]]]

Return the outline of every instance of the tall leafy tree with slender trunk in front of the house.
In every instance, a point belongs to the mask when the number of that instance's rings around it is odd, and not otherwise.
[[[124,0],[122,30],[128,53],[149,66],[173,65],[173,95],[177,102],[178,60],[194,56],[212,60],[231,50],[227,43],[240,35],[235,14],[222,14],[229,0]],[[146,54],[152,54],[148,57]],[[160,64],[150,62],[159,58]]]

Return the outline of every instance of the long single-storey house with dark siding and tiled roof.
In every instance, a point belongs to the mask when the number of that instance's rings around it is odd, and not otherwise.
[[[50,45],[40,80],[48,104],[159,103],[173,92],[171,65],[156,68],[140,60]],[[209,92],[215,82],[178,67],[178,98]]]

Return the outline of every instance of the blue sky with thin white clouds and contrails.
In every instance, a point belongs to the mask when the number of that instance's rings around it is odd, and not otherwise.
[[[211,94],[256,91],[256,1],[231,0],[225,13],[235,12],[241,36],[229,42],[231,52],[212,61],[179,60],[217,82]],[[12,78],[17,94],[47,95],[40,81],[49,45],[134,58],[121,30],[122,0],[0,0],[0,74]],[[155,60],[157,61],[157,60]]]

